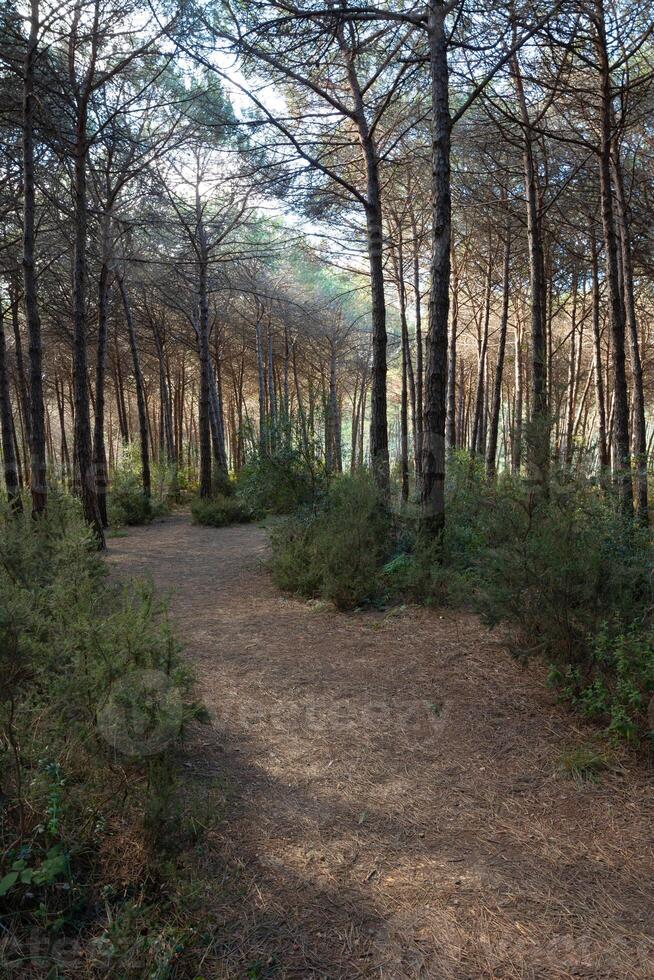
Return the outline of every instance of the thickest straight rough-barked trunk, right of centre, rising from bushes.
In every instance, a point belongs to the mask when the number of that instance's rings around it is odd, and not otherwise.
[[[445,12],[440,0],[428,3],[429,63],[432,101],[432,254],[429,330],[422,447],[422,523],[428,532],[445,526],[445,418],[447,329],[450,303],[450,130]]]

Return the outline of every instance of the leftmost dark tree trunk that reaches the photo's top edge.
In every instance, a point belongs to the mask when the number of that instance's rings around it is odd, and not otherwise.
[[[23,285],[30,356],[30,487],[32,510],[44,511],[48,503],[43,398],[43,350],[36,285],[34,178],[34,76],[39,37],[39,2],[30,2],[30,33],[23,64]]]

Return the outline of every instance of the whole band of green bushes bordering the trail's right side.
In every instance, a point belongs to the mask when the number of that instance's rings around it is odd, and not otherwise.
[[[435,540],[421,534],[417,509],[385,508],[367,475],[335,478],[274,531],[276,584],[341,609],[464,605],[508,627],[517,656],[542,658],[586,717],[639,743],[654,696],[649,528],[591,480],[553,475],[546,491],[509,474],[489,483],[465,454],[451,460],[446,492]]]

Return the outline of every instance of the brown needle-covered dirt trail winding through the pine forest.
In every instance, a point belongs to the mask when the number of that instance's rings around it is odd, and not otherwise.
[[[567,777],[592,732],[473,618],[288,599],[266,550],[183,515],[109,541],[170,594],[212,716],[209,975],[651,978],[651,775]]]

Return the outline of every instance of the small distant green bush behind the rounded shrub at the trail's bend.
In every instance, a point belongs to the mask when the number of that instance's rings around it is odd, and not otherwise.
[[[255,514],[292,514],[311,505],[324,482],[312,453],[280,448],[249,460],[238,475],[236,493]]]

